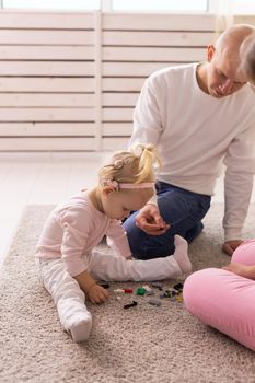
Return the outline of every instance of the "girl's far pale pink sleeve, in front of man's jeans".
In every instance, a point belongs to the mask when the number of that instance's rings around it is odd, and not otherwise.
[[[124,258],[130,257],[131,251],[128,244],[127,234],[121,225],[121,221],[112,220],[106,235],[108,246],[113,248],[117,255],[120,255]]]

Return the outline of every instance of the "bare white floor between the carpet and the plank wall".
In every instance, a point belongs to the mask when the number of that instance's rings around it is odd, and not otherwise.
[[[0,153],[0,266],[25,205],[57,204],[96,183],[111,153]],[[255,196],[253,196],[255,200]],[[223,201],[222,177],[212,201]]]

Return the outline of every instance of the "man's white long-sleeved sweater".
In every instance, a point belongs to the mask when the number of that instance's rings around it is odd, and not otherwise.
[[[212,195],[227,166],[225,241],[241,239],[255,173],[255,90],[215,98],[196,80],[197,63],[166,68],[147,79],[135,109],[130,144],[158,147],[158,179]]]

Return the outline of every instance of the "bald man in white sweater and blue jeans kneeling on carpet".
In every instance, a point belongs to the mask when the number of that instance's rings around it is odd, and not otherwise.
[[[147,79],[130,144],[157,144],[162,167],[158,206],[151,201],[124,222],[135,257],[167,256],[175,234],[192,242],[200,233],[222,163],[222,248],[231,255],[242,243],[255,172],[255,92],[241,69],[240,47],[254,31],[234,25],[208,46],[207,61],[166,68]]]

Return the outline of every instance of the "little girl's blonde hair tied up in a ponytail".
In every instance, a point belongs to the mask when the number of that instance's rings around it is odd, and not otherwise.
[[[161,162],[153,144],[137,143],[130,151],[115,153],[111,162],[101,167],[100,183],[104,179],[123,184],[154,182],[154,167],[160,165]]]

